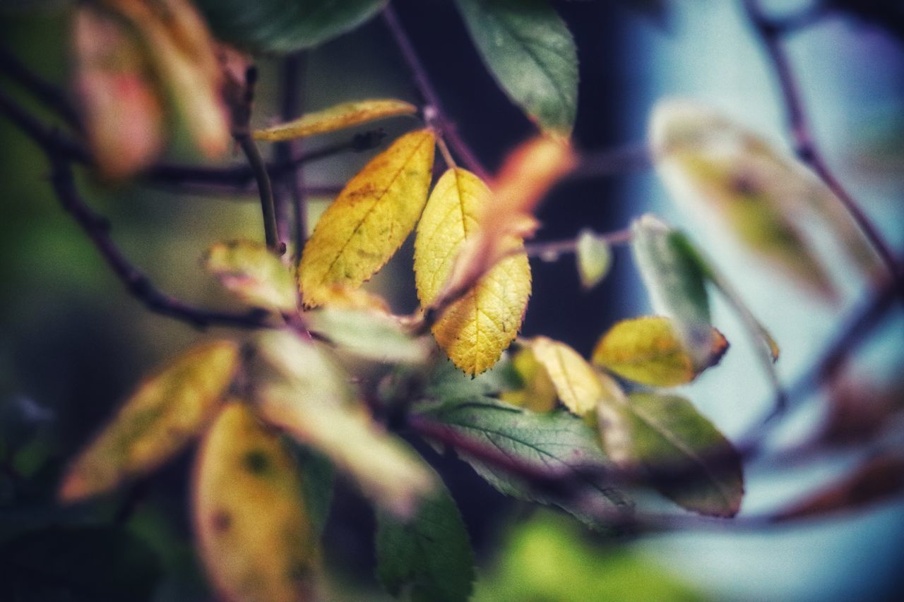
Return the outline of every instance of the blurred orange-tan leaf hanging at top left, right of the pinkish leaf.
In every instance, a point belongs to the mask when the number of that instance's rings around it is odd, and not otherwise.
[[[208,156],[226,153],[232,136],[221,100],[217,49],[192,3],[103,0],[103,4],[136,31],[156,79],[168,90],[194,143]]]

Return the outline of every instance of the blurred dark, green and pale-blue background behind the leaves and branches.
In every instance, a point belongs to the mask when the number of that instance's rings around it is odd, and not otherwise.
[[[18,5],[21,3],[12,3]],[[481,63],[451,2],[394,2],[418,49],[447,113],[461,136],[486,165],[499,165],[515,144],[532,135],[523,118]],[[764,3],[774,14],[794,14],[811,3]],[[839,3],[843,4],[843,3]],[[835,174],[877,223],[895,249],[904,248],[904,40],[902,24],[839,11],[790,34],[786,44],[815,131],[815,142]],[[12,6],[11,5],[11,6]],[[718,108],[790,152],[784,110],[773,73],[739,2],[556,2],[579,48],[579,115],[575,144],[586,152],[636,146],[645,141],[647,118],[658,99],[682,96]],[[894,15],[892,8],[887,13]],[[899,13],[898,13],[899,14]],[[65,11],[0,10],[0,40],[33,71],[67,85],[71,76],[71,32]],[[304,105],[395,97],[417,102],[408,71],[381,20],[306,52]],[[278,119],[282,65],[259,61],[254,124]],[[5,93],[45,122],[54,117],[0,75]],[[381,124],[389,136],[412,126],[397,119]],[[345,139],[347,134],[334,136]],[[330,136],[306,142],[315,148]],[[266,150],[266,149],[265,149]],[[171,154],[200,161],[177,142]],[[309,185],[343,184],[376,151],[344,154],[306,166]],[[240,157],[234,157],[236,162]],[[123,400],[142,374],[202,336],[190,326],[154,315],[127,295],[78,227],[61,212],[48,182],[46,158],[0,117],[0,547],[30,524],[51,522],[58,512],[52,489],[71,457]],[[259,205],[252,193],[229,198],[194,197],[145,186],[108,187],[80,180],[84,196],[113,224],[111,235],[129,259],[165,292],[209,306],[229,299],[200,268],[202,252],[223,239],[261,236]],[[315,199],[322,211],[329,198]],[[614,177],[561,185],[541,207],[538,240],[573,237],[581,228],[621,229],[643,212],[656,212],[687,230],[715,258],[755,315],[783,348],[780,374],[793,381],[833,340],[845,316],[868,296],[867,285],[841,255],[826,262],[843,291],[833,306],[807,296],[776,277],[724,233],[704,230],[678,211],[654,173],[632,169]],[[826,257],[832,255],[831,240]],[[416,306],[410,277],[410,241],[372,287],[391,298],[393,308]],[[523,334],[546,334],[587,354],[598,335],[617,319],[650,311],[626,249],[617,249],[612,273],[597,288],[579,287],[572,259],[532,262],[534,292]],[[238,305],[234,306],[238,307]],[[767,409],[769,389],[754,361],[744,330],[717,302],[715,324],[730,339],[730,353],[718,370],[706,372],[684,390],[728,437],[739,437]],[[904,320],[893,315],[857,353],[858,381],[877,390],[898,387]],[[793,443],[822,419],[814,397],[779,437]],[[899,591],[904,570],[904,503],[829,521],[805,522],[764,531],[688,532],[641,541],[587,540],[551,513],[533,513],[480,480],[468,466],[424,451],[457,499],[476,546],[485,599],[517,599],[501,582],[542,578],[544,567],[560,566],[560,579],[540,599],[712,597],[716,599],[889,599]],[[139,484],[140,501],[127,528],[146,543],[158,563],[151,575],[138,570],[132,584],[144,584],[158,600],[210,597],[193,558],[185,500],[191,454]],[[748,496],[742,513],[781,506],[852,466],[852,457],[826,456],[815,465],[748,468]],[[21,483],[14,481],[21,481]],[[329,564],[352,597],[379,599],[372,577],[372,511],[353,488],[340,482],[325,534]],[[116,520],[123,494],[99,503],[75,520]],[[67,518],[70,520],[71,517]],[[525,526],[526,525],[526,526]],[[591,545],[592,543],[592,545]],[[40,546],[35,544],[35,550]],[[38,553],[38,552],[35,552]],[[137,553],[137,552],[136,552]],[[138,555],[136,558],[138,558]],[[640,560],[638,560],[640,559]],[[140,562],[137,562],[141,565]],[[519,569],[520,567],[520,569]],[[579,588],[585,567],[605,574],[600,584]],[[655,568],[655,569],[654,569]],[[522,572],[519,572],[522,571]],[[599,572],[602,571],[602,572]],[[0,569],[2,572],[2,569]],[[571,585],[563,575],[571,578]],[[637,590],[651,575],[662,589]],[[627,577],[626,577],[627,576]],[[618,589],[619,578],[626,585]],[[142,580],[143,579],[143,580]],[[495,584],[495,585],[494,585]],[[608,585],[606,585],[608,584]],[[615,584],[615,585],[613,585]],[[611,589],[606,589],[609,587]],[[658,587],[658,586],[657,586]],[[564,593],[562,593],[564,591]],[[509,596],[506,598],[506,596]],[[4,594],[0,591],[0,598]],[[23,598],[25,599],[25,598]],[[29,598],[30,599],[30,598]],[[46,598],[53,599],[53,598]],[[136,597],[138,599],[138,597]]]

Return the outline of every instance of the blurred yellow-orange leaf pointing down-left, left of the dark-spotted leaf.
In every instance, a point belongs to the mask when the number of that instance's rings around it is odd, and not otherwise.
[[[144,381],[71,466],[60,499],[106,493],[179,453],[207,426],[238,360],[235,343],[206,343]]]

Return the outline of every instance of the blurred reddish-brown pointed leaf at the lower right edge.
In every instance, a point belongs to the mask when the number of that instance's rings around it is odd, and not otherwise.
[[[776,521],[852,512],[904,492],[904,458],[874,456],[850,475],[777,513]]]

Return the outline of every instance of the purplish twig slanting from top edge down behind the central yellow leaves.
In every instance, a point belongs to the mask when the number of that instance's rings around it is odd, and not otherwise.
[[[467,146],[465,140],[458,136],[454,122],[447,117],[446,111],[439,101],[437,91],[430,82],[427,70],[424,69],[424,65],[420,62],[418,52],[414,50],[414,45],[411,43],[408,33],[405,32],[405,28],[402,27],[399,15],[396,14],[391,4],[387,4],[383,9],[383,21],[390,30],[393,39],[395,39],[396,45],[399,46],[402,58],[408,64],[420,95],[428,104],[428,107],[424,110],[424,117],[427,119],[428,124],[438,128],[448,144],[461,157],[462,162],[467,165],[468,169],[474,172],[481,180],[489,182],[489,172],[481,164],[471,147]],[[432,123],[430,118],[433,118]]]

